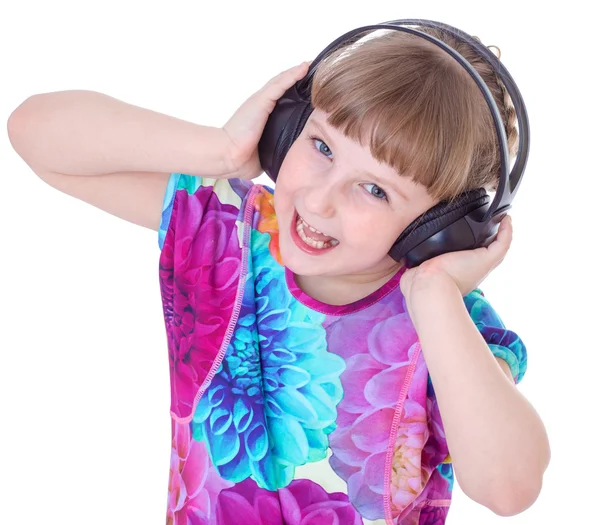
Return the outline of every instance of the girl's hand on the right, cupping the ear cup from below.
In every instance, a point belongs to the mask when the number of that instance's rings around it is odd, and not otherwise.
[[[409,268],[400,279],[400,289],[409,302],[411,294],[419,293],[419,289],[435,286],[439,279],[452,279],[464,297],[504,260],[511,241],[512,220],[506,215],[500,222],[496,238],[487,248],[444,253]]]

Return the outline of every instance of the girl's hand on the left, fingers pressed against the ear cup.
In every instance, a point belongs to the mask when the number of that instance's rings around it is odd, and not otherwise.
[[[277,101],[308,72],[303,62],[279,73],[244,102],[223,126],[228,137],[227,178],[253,179],[262,173],[258,142]]]

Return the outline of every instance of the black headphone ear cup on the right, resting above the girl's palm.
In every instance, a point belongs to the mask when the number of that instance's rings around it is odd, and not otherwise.
[[[466,221],[461,219],[486,206],[489,200],[485,188],[478,188],[452,201],[436,204],[404,229],[389,255],[396,261],[406,256],[410,268],[442,253],[474,247],[473,233]]]

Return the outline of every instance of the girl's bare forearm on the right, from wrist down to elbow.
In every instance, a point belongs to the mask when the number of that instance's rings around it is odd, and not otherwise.
[[[442,279],[419,292],[409,311],[460,486],[497,513],[520,512],[537,498],[548,464],[544,425],[498,365],[454,283]]]

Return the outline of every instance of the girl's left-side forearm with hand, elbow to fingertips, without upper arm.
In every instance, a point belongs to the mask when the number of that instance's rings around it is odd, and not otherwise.
[[[33,95],[9,117],[17,153],[34,168],[62,175],[185,173],[252,179],[257,145],[276,101],[308,63],[273,77],[223,127],[202,126],[86,90]]]

